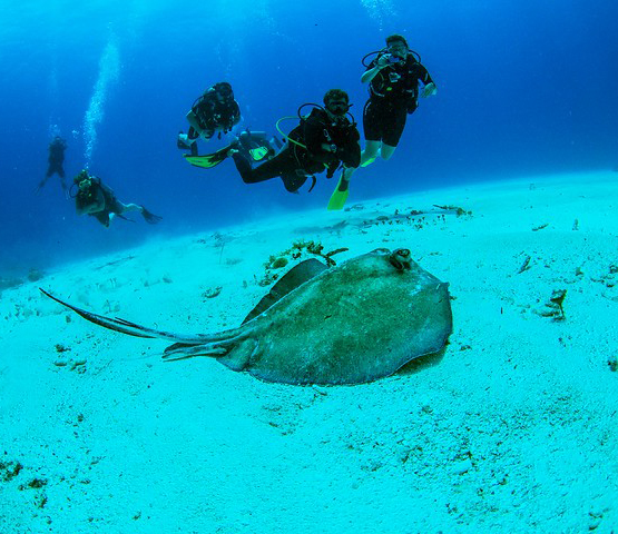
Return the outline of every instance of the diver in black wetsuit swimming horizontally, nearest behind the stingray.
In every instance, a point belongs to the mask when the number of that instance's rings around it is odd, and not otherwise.
[[[347,119],[350,99],[345,91],[331,89],[324,95],[324,108],[317,105],[307,117],[287,136],[287,145],[271,160],[252,168],[249,160],[241,151],[232,150],[236,169],[245,184],[257,184],[281,177],[285,189],[297,192],[311,176],[327,170],[332,178],[341,164],[357,167],[361,161],[361,136],[356,123]],[[301,109],[298,108],[298,116]]]

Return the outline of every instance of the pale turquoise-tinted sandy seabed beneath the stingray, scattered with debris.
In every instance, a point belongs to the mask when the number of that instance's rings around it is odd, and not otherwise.
[[[222,229],[223,249],[190,236],[4,290],[0,532],[618,532],[616,178],[304,212]],[[434,204],[473,216],[361,225]],[[37,289],[214,332],[242,322],[267,291],[264,261],[297,239],[349,247],[339,263],[410,248],[450,283],[445,355],[367,385],[266,384],[215,359],[163,363],[166,342],[96,327]],[[567,289],[563,322],[534,313],[555,289]],[[19,488],[35,478],[47,484]]]

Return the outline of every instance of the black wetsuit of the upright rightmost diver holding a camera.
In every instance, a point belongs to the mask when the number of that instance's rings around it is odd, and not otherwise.
[[[377,65],[375,58],[367,70]],[[396,147],[408,113],[419,106],[419,82],[433,83],[428,70],[408,55],[405,61],[383,68],[370,82],[370,99],[363,112],[363,128],[367,141],[383,141]]]

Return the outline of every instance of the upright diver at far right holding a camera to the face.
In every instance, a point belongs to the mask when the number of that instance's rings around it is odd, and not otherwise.
[[[377,56],[366,66],[364,59],[371,53]],[[424,98],[436,92],[420,56],[410,50],[403,36],[389,36],[386,48],[371,53],[363,58],[366,70],[361,77],[361,82],[369,83],[370,92],[363,111],[365,149],[361,167],[373,164],[377,152],[382,159],[390,159],[405,128],[406,115],[419,106],[419,93]],[[423,86],[422,91],[419,85]],[[350,169],[342,174],[337,189],[347,187],[353,172]]]

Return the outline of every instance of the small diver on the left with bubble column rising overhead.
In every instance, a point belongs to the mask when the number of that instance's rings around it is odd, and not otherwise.
[[[161,220],[161,217],[151,214],[144,206],[122,204],[116,198],[114,191],[101,182],[100,178],[90,175],[86,169],[75,177],[73,187],[77,187],[77,194],[71,195],[75,198],[77,214],[91,215],[106,228],[116,216],[131,220],[122,215],[127,211],[140,211],[144,220],[150,225],[156,225]]]

